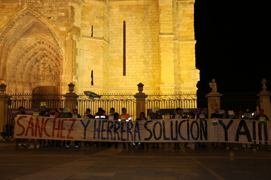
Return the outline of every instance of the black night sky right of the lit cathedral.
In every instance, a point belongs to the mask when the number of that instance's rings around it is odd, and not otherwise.
[[[218,92],[271,90],[270,1],[195,1],[198,92],[208,93],[211,79]]]

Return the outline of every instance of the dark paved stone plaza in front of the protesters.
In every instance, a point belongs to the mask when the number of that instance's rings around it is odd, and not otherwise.
[[[13,147],[11,142],[0,143],[1,180],[241,180],[270,179],[271,176],[271,152],[264,150],[219,150],[210,144],[207,150],[190,150],[183,145],[182,150]]]

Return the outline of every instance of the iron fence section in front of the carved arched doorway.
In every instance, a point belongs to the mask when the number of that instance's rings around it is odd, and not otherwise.
[[[47,108],[65,108],[63,94],[12,94],[10,95],[8,109],[18,109],[20,106],[26,109],[39,109],[41,102],[45,102]],[[8,113],[7,123],[14,125],[12,118],[13,115]]]

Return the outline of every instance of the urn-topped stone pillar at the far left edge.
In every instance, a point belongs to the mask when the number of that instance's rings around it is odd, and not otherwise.
[[[8,100],[9,95],[5,93],[7,85],[0,85],[0,132],[5,130],[5,125],[8,119]]]

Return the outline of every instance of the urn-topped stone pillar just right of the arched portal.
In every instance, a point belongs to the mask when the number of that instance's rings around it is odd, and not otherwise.
[[[68,84],[69,86],[69,91],[68,93],[66,93],[66,95],[63,95],[65,97],[65,108],[69,108],[70,112],[76,108],[77,105],[77,98],[79,97],[78,95],[76,95],[73,92],[74,89],[74,84],[71,82],[70,84]]]

